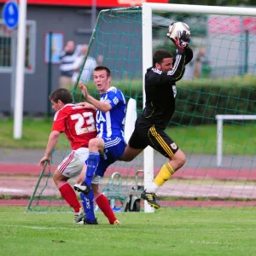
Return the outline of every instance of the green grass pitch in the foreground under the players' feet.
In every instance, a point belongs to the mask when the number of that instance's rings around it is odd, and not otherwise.
[[[255,255],[255,208],[118,213],[121,226],[73,225],[71,213],[0,207],[1,255]]]

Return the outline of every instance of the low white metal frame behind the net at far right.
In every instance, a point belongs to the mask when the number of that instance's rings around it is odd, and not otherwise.
[[[217,114],[217,166],[222,166],[223,159],[223,121],[224,120],[256,120],[256,114]]]

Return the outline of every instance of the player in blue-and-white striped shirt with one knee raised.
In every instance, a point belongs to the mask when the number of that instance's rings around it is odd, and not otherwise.
[[[74,189],[84,193],[84,224],[96,224],[93,199],[97,200],[102,194],[99,192],[99,181],[104,176],[108,166],[113,164],[125,151],[125,96],[111,86],[111,73],[108,67],[99,66],[94,70],[96,89],[101,94],[100,101],[90,96],[87,88],[80,83],[84,97],[97,109],[96,128],[98,135],[89,143],[89,158],[86,161],[87,170],[83,183],[74,185]],[[81,175],[80,175],[81,177]],[[106,207],[109,203],[106,201]],[[107,216],[108,217],[108,216]],[[115,223],[118,224],[118,223]]]

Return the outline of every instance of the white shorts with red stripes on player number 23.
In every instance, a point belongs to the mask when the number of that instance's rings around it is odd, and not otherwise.
[[[58,171],[65,177],[75,177],[82,172],[84,162],[88,159],[89,149],[78,148],[73,150],[67,157],[62,160],[58,166]]]

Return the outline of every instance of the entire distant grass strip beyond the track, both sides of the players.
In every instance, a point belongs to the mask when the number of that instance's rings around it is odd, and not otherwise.
[[[13,120],[1,119],[0,145],[4,148],[45,148],[51,125],[52,119],[24,119],[22,139],[14,140]],[[254,123],[224,124],[224,154],[256,154],[255,130]],[[216,154],[216,125],[175,126],[166,132],[188,154]],[[58,148],[62,145],[67,145],[64,135],[61,136]]]

